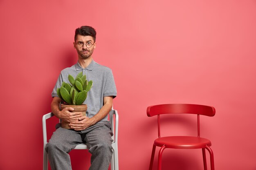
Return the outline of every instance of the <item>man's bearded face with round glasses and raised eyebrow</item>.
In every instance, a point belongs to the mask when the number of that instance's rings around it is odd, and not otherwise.
[[[74,42],[73,44],[74,48],[77,51],[78,57],[81,59],[88,59],[89,57],[91,57],[93,50],[96,48],[96,43],[94,43],[92,36],[77,35],[76,42]],[[83,44],[83,46],[79,47],[79,44]],[[87,47],[86,45],[92,46]]]

